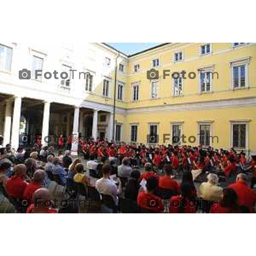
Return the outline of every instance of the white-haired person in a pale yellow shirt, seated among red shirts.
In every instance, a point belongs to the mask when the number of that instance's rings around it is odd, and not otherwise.
[[[218,175],[210,173],[207,176],[207,182],[203,182],[199,187],[201,198],[211,201],[219,201],[222,198],[222,188],[218,186]]]

